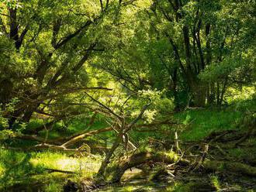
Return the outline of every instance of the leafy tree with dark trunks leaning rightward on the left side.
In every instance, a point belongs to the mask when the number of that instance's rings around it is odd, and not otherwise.
[[[117,18],[134,2],[35,0],[21,1],[19,6],[3,2],[2,110],[13,98],[19,100],[12,112],[4,113],[9,126],[17,119],[29,122],[35,111],[43,112],[64,95],[106,90],[106,82],[89,87],[91,68],[85,63],[111,44],[107,38],[119,28]]]

